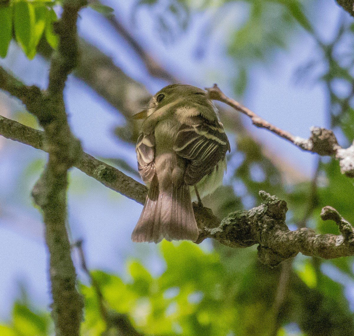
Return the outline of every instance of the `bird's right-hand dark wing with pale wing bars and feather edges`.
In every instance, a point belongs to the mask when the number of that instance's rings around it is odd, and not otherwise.
[[[188,160],[184,181],[195,185],[223,160],[230,143],[221,122],[183,124],[177,133],[173,150]]]

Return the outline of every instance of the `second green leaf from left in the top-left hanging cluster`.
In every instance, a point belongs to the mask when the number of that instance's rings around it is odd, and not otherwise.
[[[30,55],[33,54],[31,40],[35,26],[35,12],[31,3],[27,1],[15,2],[13,25],[16,41],[30,58]]]

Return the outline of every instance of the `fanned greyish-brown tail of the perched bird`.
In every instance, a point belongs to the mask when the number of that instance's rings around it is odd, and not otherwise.
[[[158,243],[165,238],[168,241],[186,239],[195,242],[198,235],[189,186],[172,185],[169,190],[159,190],[155,174],[133,230],[132,241]]]

